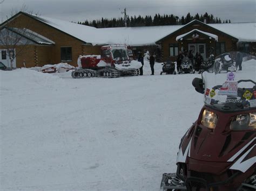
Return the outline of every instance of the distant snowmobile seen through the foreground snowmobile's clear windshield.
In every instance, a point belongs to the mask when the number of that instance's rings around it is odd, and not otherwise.
[[[220,54],[219,59],[216,60],[217,63],[215,64],[215,67],[219,69],[219,73],[227,73],[236,70],[237,67],[235,67],[235,61],[233,59],[233,56],[233,53]]]

